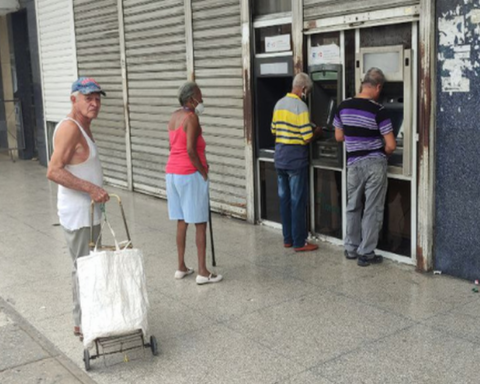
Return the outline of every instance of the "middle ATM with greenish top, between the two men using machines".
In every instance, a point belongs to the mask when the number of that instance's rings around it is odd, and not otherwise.
[[[343,146],[335,140],[333,119],[343,96],[342,65],[316,64],[308,67],[313,82],[310,118],[322,128],[311,144],[311,226],[316,233],[342,238]]]

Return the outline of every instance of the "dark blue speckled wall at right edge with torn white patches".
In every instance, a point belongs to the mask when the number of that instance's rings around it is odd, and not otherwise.
[[[437,0],[435,269],[480,278],[480,3]]]

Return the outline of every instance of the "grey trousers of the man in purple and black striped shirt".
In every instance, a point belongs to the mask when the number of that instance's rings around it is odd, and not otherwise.
[[[348,167],[345,249],[349,254],[373,255],[383,224],[386,193],[386,159],[360,160]]]

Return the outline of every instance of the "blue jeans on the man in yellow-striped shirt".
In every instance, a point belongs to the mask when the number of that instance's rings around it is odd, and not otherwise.
[[[307,239],[306,209],[308,196],[308,167],[279,169],[278,196],[282,215],[283,242],[303,247]]]

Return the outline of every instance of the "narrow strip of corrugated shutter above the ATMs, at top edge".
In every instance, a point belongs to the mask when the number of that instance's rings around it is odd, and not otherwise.
[[[304,20],[418,5],[420,0],[304,0]]]

